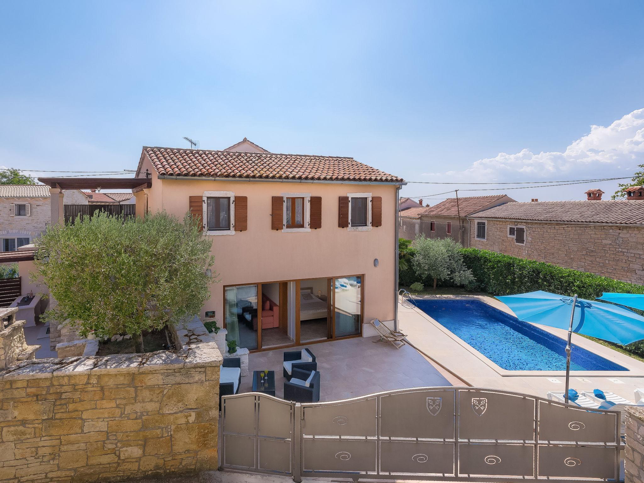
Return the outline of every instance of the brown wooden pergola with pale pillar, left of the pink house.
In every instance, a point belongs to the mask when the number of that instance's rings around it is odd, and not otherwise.
[[[151,178],[38,178],[49,186],[51,194],[52,223],[64,220],[63,193],[65,189],[131,189],[138,193],[152,187]]]

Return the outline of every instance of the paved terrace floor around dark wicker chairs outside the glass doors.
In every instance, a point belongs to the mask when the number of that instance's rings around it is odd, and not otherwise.
[[[396,349],[378,337],[355,337],[249,355],[251,375],[242,377],[240,393],[251,392],[252,371],[274,370],[276,396],[283,397],[283,353],[310,349],[320,372],[320,401],[337,401],[374,392],[419,386],[462,385],[411,346]],[[451,382],[450,382],[451,381]]]

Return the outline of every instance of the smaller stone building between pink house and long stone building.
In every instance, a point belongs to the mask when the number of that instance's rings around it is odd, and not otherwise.
[[[427,238],[452,238],[468,247],[469,225],[466,217],[477,211],[514,201],[506,194],[448,198],[420,213],[419,233]]]

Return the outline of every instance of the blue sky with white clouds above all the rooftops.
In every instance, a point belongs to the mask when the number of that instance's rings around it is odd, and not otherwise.
[[[5,1],[0,164],[118,171],[144,145],[248,137],[413,181],[628,176],[643,24],[639,1]]]

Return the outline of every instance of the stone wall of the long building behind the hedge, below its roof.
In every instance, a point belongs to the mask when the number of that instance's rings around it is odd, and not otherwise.
[[[644,284],[644,228],[488,220],[487,240],[477,240],[475,222],[471,247]],[[526,227],[525,245],[507,236],[515,225]]]

